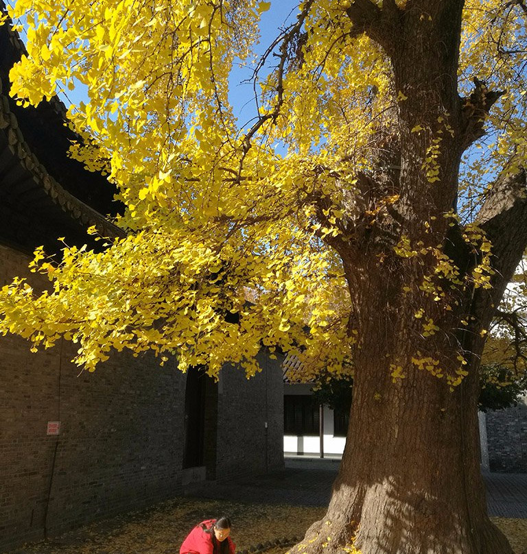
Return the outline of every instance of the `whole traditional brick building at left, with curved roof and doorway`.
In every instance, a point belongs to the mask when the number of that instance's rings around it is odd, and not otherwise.
[[[0,286],[27,276],[45,287],[27,272],[34,248],[59,252],[59,236],[82,245],[93,224],[122,234],[102,215],[120,206],[67,155],[75,136],[57,98],[21,108],[9,97],[23,48],[0,27]],[[32,354],[0,338],[0,551],[176,496],[193,479],[283,466],[282,372],[265,352],[254,379],[227,367],[219,383],[124,352],[80,372],[73,354],[67,341]]]

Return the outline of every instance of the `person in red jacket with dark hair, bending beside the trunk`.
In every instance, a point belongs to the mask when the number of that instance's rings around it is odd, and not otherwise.
[[[229,536],[231,520],[225,516],[198,523],[183,541],[180,554],[235,554],[236,545]]]

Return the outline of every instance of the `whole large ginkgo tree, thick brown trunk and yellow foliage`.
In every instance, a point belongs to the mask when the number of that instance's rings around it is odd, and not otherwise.
[[[72,154],[126,212],[98,252],[37,250],[3,332],[353,372],[327,514],[295,553],[507,554],[478,458],[478,367],[527,245],[522,0],[305,0],[263,56],[257,0],[18,0],[23,104],[75,86]],[[284,18],[287,13],[284,13]],[[254,69],[255,118],[229,104]],[[251,65],[252,64],[252,65]],[[97,234],[96,229],[91,232]]]

